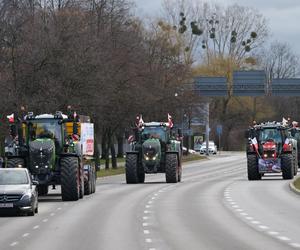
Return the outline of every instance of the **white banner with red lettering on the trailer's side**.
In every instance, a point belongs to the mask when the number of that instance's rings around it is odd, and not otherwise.
[[[94,124],[81,123],[81,145],[83,155],[94,155]]]

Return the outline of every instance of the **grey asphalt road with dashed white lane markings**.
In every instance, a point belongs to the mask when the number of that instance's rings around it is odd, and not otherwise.
[[[38,215],[0,217],[0,249],[300,249],[300,196],[278,175],[249,182],[244,154],[185,164],[182,183],[164,181],[106,177],[79,202],[51,191]]]

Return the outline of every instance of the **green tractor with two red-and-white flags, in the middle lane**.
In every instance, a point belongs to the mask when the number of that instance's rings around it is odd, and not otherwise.
[[[130,141],[131,151],[126,152],[126,182],[144,183],[145,174],[165,173],[167,183],[181,181],[181,131],[176,135],[173,123],[140,122],[134,128]]]

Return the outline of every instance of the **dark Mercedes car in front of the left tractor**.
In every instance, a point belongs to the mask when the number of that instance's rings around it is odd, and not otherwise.
[[[38,212],[36,184],[26,168],[1,168],[0,210],[34,216]]]

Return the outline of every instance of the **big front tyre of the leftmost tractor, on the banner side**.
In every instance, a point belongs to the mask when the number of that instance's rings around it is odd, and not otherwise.
[[[80,195],[80,173],[76,157],[63,157],[61,165],[61,196],[63,201],[77,201]]]

